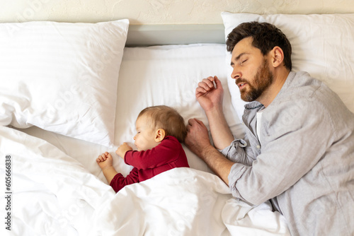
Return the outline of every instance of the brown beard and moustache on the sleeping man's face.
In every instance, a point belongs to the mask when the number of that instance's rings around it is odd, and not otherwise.
[[[266,58],[263,59],[263,64],[258,67],[256,76],[254,76],[254,80],[252,84],[243,79],[236,79],[236,84],[245,82],[248,85],[248,89],[244,88],[240,90],[241,99],[245,102],[252,102],[257,100],[262,93],[273,83],[273,73],[269,70],[268,60]]]

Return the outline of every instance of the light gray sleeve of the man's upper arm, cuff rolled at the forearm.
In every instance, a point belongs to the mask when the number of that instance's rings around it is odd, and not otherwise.
[[[262,127],[266,134],[261,154],[252,165],[235,163],[229,174],[232,194],[256,205],[292,187],[333,142],[329,111],[324,107],[285,102],[278,109],[281,112],[272,117],[263,114],[268,120]]]

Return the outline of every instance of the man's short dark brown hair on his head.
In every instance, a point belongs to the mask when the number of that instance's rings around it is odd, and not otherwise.
[[[284,52],[284,66],[291,71],[291,45],[284,33],[270,23],[256,21],[241,23],[227,35],[227,51],[232,52],[235,45],[246,37],[252,37],[253,47],[261,50],[263,55],[268,54],[275,46]]]

